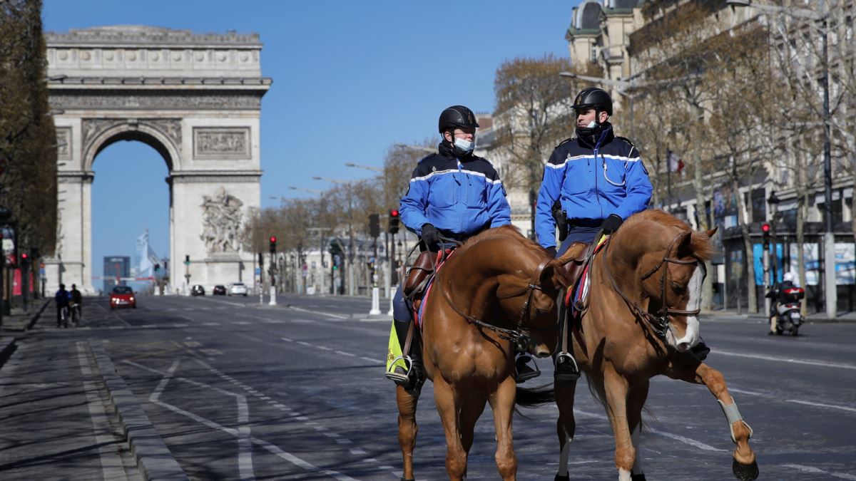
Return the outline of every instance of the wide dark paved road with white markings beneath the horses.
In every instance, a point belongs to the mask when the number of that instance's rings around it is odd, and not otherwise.
[[[191,478],[399,478],[394,388],[382,375],[389,322],[360,320],[366,299],[278,300],[276,307],[252,296],[143,298],[140,308],[122,311],[90,305],[87,327],[62,335],[104,342]],[[856,324],[809,324],[791,338],[766,336],[753,322],[703,321],[702,332],[713,348],[709,364],[723,371],[755,431],[762,479],[856,480]],[[613,479],[603,408],[585,383],[578,393],[572,478]],[[704,387],[657,378],[648,407],[648,478],[732,479],[728,425]],[[519,478],[550,479],[556,408],[526,413],[514,421]],[[446,478],[430,383],[418,419],[417,478]],[[468,478],[496,478],[494,448],[488,409]]]

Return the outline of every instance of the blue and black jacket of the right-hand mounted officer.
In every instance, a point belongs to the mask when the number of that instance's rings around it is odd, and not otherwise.
[[[608,122],[594,145],[580,138],[565,140],[544,166],[535,208],[538,242],[556,246],[556,199],[572,223],[594,223],[610,214],[627,219],[644,211],[652,190],[639,151],[629,140],[615,137]]]

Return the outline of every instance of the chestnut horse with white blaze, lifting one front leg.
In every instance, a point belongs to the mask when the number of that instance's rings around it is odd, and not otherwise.
[[[704,260],[714,252],[710,237],[715,233],[693,231],[663,211],[642,211],[629,217],[591,261],[588,305],[579,306],[581,317],[568,339],[612,425],[620,481],[645,479],[639,462],[641,414],[650,379],[661,374],[710,390],[736,444],[734,476],[758,478],[749,446],[752,429],[740,416],[725,378],[689,351],[699,339]],[[560,260],[573,256],[568,252]],[[569,479],[575,387],[575,381],[554,384],[561,451],[556,481]]]

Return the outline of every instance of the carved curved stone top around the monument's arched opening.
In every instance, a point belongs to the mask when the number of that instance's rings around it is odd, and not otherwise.
[[[181,123],[177,120],[84,119],[83,135],[84,171],[92,170],[95,157],[119,140],[140,141],[158,151],[170,172],[181,169]]]

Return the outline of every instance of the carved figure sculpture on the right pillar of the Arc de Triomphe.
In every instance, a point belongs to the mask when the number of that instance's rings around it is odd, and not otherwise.
[[[202,197],[202,235],[208,252],[237,252],[240,246],[241,200],[220,187]]]

